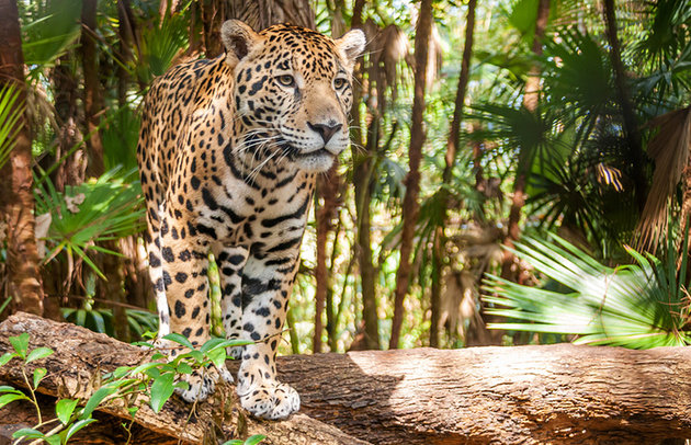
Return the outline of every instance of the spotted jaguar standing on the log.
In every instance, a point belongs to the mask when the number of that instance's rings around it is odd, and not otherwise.
[[[279,24],[256,32],[230,20],[225,54],[171,68],[143,105],[137,147],[146,201],[149,274],[159,316],[157,345],[175,332],[194,346],[209,334],[209,253],[222,284],[228,339],[250,342],[237,393],[258,418],[285,419],[299,396],[276,378],[275,357],[317,175],[349,146],[352,72],[362,31],[340,38]],[[186,401],[205,400],[213,366],[184,375]]]

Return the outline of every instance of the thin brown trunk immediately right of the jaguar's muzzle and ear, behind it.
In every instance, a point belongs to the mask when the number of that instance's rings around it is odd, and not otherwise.
[[[365,5],[365,0],[356,0],[353,7],[353,19],[351,21],[351,27],[362,28],[362,12]],[[353,144],[351,145],[353,157],[353,186],[355,191],[355,212],[358,217],[358,242],[356,254],[358,264],[360,266],[360,279],[362,288],[362,319],[364,322],[364,332],[362,342],[353,342],[352,349],[380,349],[380,334],[378,334],[378,318],[376,310],[376,293],[375,281],[376,270],[372,262],[372,239],[370,236],[371,222],[370,222],[370,202],[372,199],[372,153],[363,150],[363,139],[361,116],[360,116],[360,102],[362,101],[362,79],[364,72],[364,61],[360,62],[355,67],[354,81],[353,81],[353,107],[350,112],[353,127],[351,128],[351,137]],[[370,140],[366,146],[370,146]]]

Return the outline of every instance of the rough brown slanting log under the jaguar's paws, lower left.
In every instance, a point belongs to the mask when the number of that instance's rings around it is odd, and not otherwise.
[[[93,388],[93,384],[101,373],[114,370],[118,366],[136,366],[148,362],[150,357],[149,351],[122,343],[107,335],[23,312],[11,316],[0,323],[0,354],[11,350],[9,338],[22,332],[29,332],[31,335],[30,350],[47,346],[55,351],[48,358],[32,362],[27,367],[29,373],[33,373],[38,366],[48,369],[38,391],[52,397],[88,398],[97,389]],[[16,360],[0,367],[0,380],[15,387],[23,386],[21,366]],[[218,385],[208,402],[200,402],[196,406],[185,403],[177,396],[173,396],[158,414],[145,402],[139,406],[134,420],[138,429],[146,430],[148,434],[177,437],[182,443],[216,443],[204,441],[264,434],[268,436],[264,442],[267,444],[367,444],[305,414],[293,415],[285,422],[256,420],[238,408],[235,390],[227,385]],[[13,412],[12,406],[9,409]],[[109,423],[114,425],[114,430],[120,427],[123,419],[132,419],[118,400],[101,406],[99,411],[111,417]],[[46,411],[48,415],[52,412],[52,409]],[[0,410],[0,413],[4,412]],[[8,424],[1,414],[0,424]],[[87,427],[86,431],[88,430]],[[114,440],[101,443],[123,442]]]

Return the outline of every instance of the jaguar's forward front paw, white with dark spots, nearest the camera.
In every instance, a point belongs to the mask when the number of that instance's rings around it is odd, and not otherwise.
[[[283,420],[299,410],[299,395],[287,384],[264,380],[254,385],[238,385],[242,408],[252,415],[269,420]]]

